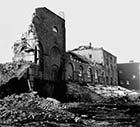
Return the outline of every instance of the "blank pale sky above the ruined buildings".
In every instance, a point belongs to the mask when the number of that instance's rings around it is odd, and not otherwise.
[[[36,7],[64,11],[67,49],[92,42],[118,62],[140,61],[140,0],[1,0],[0,63],[11,61],[11,47]]]

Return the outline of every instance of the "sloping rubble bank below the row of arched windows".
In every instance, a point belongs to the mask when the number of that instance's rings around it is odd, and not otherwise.
[[[120,86],[67,84],[67,100],[70,102],[89,102],[113,105],[140,104],[140,94]]]

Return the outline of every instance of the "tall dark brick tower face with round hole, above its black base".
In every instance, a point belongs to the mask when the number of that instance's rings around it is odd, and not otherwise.
[[[65,20],[46,8],[37,8],[32,22],[42,47],[43,79],[60,80],[61,57],[65,53]]]

